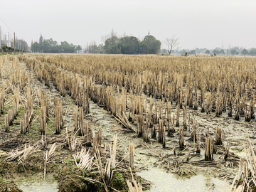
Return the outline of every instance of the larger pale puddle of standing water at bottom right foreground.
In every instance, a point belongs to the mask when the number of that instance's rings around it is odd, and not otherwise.
[[[213,191],[221,191],[224,181],[210,176],[196,175],[191,178],[176,178],[174,174],[168,174],[163,169],[152,168],[149,171],[137,172],[137,175],[151,181],[153,185],[150,192],[155,191],[208,191],[214,183]],[[212,189],[212,188],[211,188]],[[228,182],[225,183],[225,190],[228,189]]]

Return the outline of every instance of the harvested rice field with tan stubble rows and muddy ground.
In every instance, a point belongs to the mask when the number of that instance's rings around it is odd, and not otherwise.
[[[0,65],[0,191],[256,191],[256,58]]]

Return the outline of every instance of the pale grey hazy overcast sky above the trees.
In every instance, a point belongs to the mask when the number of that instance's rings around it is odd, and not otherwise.
[[[181,48],[256,48],[255,0],[1,0],[0,18],[28,46],[42,33],[85,47],[103,43],[113,28],[140,39],[150,31],[160,41],[176,34]],[[0,26],[11,33],[1,20]]]

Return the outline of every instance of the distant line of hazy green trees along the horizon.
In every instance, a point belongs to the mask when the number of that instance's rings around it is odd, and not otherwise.
[[[214,50],[208,50],[206,48],[194,48],[193,50],[183,49],[178,50],[179,38],[176,35],[171,38],[166,38],[163,43],[166,44],[167,49],[161,48],[161,41],[157,40],[154,36],[148,34],[139,40],[139,38],[134,36],[123,35],[122,37],[117,37],[117,33],[112,32],[109,35],[102,36],[102,44],[97,45],[95,41],[90,44],[87,43],[85,49],[82,50],[81,46],[75,46],[73,43],[68,43],[67,41],[62,41],[58,44],[57,41],[50,39],[43,39],[41,35],[39,41],[33,43],[31,42],[31,47],[28,47],[28,43],[23,41],[23,39],[18,39],[16,36],[16,50],[19,52],[29,51],[33,53],[106,53],[106,54],[162,54],[162,55],[182,55],[186,52],[188,55],[195,54],[210,54],[210,55],[251,55],[256,56],[256,48],[215,48]],[[1,52],[12,53],[14,52],[14,40],[9,41],[11,43],[10,47],[4,45],[7,41],[1,41]],[[4,47],[6,46],[6,47]],[[82,50],[82,52],[81,52]]]

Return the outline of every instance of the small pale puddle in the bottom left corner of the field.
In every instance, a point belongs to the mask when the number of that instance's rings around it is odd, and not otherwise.
[[[46,181],[41,178],[22,178],[15,182],[23,192],[57,192],[58,183],[57,181],[46,179]]]

